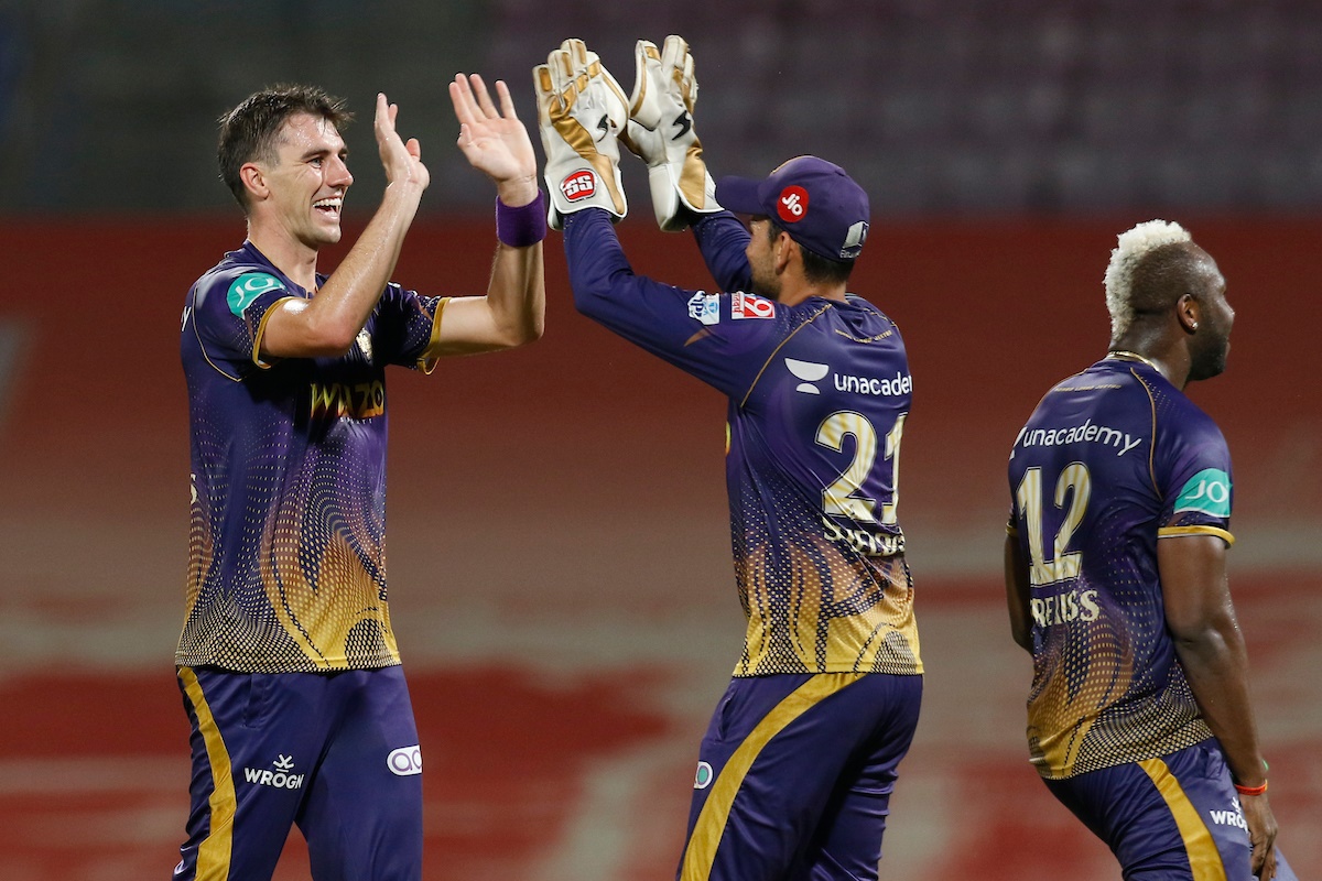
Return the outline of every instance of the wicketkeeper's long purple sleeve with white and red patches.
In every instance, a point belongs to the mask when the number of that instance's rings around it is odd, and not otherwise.
[[[602,210],[564,218],[564,254],[580,313],[731,398],[743,398],[792,333],[789,310],[771,300],[636,275]]]

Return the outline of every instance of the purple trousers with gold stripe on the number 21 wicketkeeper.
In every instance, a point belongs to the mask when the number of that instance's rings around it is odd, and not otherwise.
[[[682,881],[876,878],[920,676],[735,678],[699,752]]]

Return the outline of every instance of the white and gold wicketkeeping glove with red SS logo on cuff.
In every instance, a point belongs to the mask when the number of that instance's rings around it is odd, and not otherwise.
[[[596,53],[572,38],[533,69],[533,87],[551,194],[547,223],[561,230],[566,214],[586,207],[605,209],[619,221],[628,213],[619,144],[629,119],[624,90]]]

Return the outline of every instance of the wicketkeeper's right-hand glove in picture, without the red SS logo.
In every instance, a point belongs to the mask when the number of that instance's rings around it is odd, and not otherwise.
[[[682,37],[656,44],[640,40],[635,46],[636,75],[629,98],[629,123],[624,145],[648,164],[652,211],[668,232],[689,226],[691,213],[720,210],[717,185],[702,159],[702,141],[693,127],[698,81],[693,55]]]

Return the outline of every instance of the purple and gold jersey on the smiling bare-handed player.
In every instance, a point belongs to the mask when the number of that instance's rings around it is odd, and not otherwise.
[[[385,366],[431,369],[444,300],[390,284],[348,354],[264,363],[262,332],[288,297],[308,292],[246,242],[184,306],[192,523],[181,666],[399,663],[386,604]]]

